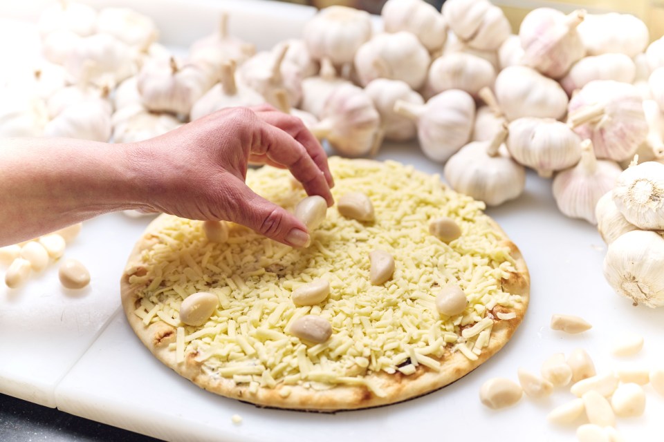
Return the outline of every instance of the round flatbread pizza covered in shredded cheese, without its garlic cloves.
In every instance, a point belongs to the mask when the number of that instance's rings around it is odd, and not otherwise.
[[[162,363],[210,392],[264,407],[333,412],[387,405],[448,385],[503,347],[528,306],[530,280],[519,249],[438,175],[398,162],[331,157],[336,200],[361,192],[374,220],[336,206],[294,249],[238,224],[211,240],[203,222],[160,215],[131,252],[122,305],[142,343]],[[293,210],[306,197],[288,171],[249,171],[248,185]],[[432,220],[447,217],[461,236],[443,242]],[[372,251],[394,258],[380,285]],[[324,280],[329,295],[297,305],[293,291]],[[436,308],[441,287],[467,300],[459,314]],[[212,294],[201,325],[180,317],[183,301]],[[214,299],[216,297],[216,299]],[[218,302],[217,302],[218,300]],[[293,334],[304,316],[331,326],[324,342]]]

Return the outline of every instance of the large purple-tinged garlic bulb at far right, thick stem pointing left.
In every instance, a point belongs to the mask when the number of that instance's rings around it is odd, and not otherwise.
[[[645,140],[643,100],[631,84],[611,80],[588,83],[569,102],[569,124],[589,138],[598,158],[625,160]]]

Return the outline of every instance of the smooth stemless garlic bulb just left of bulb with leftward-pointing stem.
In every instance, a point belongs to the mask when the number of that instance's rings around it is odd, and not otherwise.
[[[560,84],[527,66],[501,70],[495,93],[510,121],[521,117],[560,119],[567,111],[567,94]]]

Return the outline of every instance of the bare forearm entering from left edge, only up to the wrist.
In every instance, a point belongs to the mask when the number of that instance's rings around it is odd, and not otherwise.
[[[0,140],[0,246],[138,207],[136,179],[122,144]]]

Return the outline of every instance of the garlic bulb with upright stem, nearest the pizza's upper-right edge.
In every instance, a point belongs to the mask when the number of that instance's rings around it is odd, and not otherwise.
[[[445,164],[445,180],[452,189],[488,206],[497,206],[521,195],[526,169],[510,157],[503,142],[506,126],[492,140],[466,144]]]

